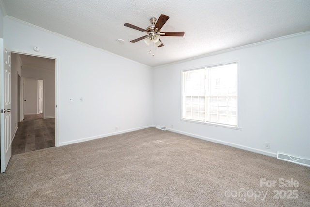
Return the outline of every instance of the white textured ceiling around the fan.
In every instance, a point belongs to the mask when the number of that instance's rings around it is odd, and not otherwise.
[[[8,16],[151,67],[310,31],[310,0],[2,1]],[[152,44],[129,42],[146,33],[124,23],[146,28],[160,14],[170,17],[162,32],[185,35],[161,37],[153,56]]]

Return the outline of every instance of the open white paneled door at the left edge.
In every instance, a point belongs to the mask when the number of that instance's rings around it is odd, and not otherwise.
[[[0,121],[1,121],[1,173],[8,166],[11,146],[11,52],[0,39]]]

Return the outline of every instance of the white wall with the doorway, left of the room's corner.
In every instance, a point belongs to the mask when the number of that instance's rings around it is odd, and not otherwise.
[[[12,50],[58,56],[58,145],[99,138],[153,124],[153,71],[105,51],[4,17]],[[122,47],[115,41],[115,47]],[[73,97],[73,102],[68,98]],[[84,98],[79,102],[80,97]],[[118,127],[118,131],[115,131]],[[57,142],[57,141],[56,141]]]

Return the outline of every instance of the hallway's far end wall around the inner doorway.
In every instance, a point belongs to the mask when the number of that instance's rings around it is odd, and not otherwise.
[[[55,71],[23,65],[22,77],[44,80],[44,118],[55,117]],[[26,114],[26,112],[25,112]]]

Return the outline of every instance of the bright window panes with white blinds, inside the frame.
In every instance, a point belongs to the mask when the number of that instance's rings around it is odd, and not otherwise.
[[[231,63],[183,71],[182,118],[237,127],[237,69]]]

